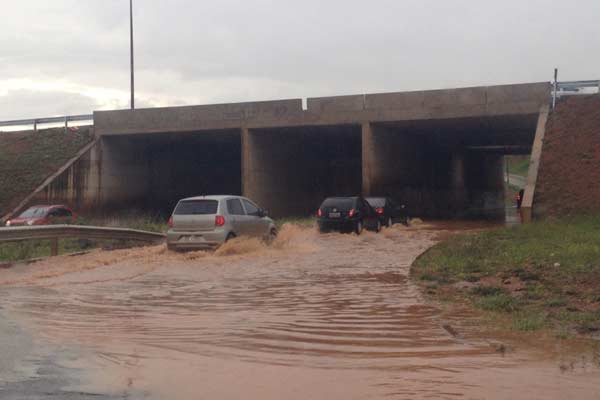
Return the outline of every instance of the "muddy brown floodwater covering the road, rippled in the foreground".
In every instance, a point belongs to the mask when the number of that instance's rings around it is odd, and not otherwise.
[[[599,398],[594,363],[556,343],[502,346],[423,298],[409,266],[439,233],[287,225],[270,247],[95,251],[4,270],[0,317],[21,333],[0,350],[31,340],[0,382],[21,398],[39,374],[31,349],[44,349],[65,398]]]

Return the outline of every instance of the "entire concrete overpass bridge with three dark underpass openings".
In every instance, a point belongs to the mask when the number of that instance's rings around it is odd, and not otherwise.
[[[329,195],[391,195],[413,215],[502,209],[503,156],[528,154],[550,84],[97,111],[80,208],[168,210],[181,197],[243,194],[275,216]],[[64,186],[64,185],[63,185]],[[51,196],[51,197],[52,197]],[[49,199],[50,200],[50,199]]]

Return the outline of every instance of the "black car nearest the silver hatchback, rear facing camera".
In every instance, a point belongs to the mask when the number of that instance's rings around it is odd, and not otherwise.
[[[362,197],[328,197],[317,211],[320,232],[355,232],[364,228],[381,230],[381,221],[373,207]]]

